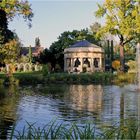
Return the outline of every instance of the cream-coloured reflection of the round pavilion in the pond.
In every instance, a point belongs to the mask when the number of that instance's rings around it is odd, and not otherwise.
[[[71,85],[68,98],[74,110],[98,114],[102,109],[102,95],[101,85]]]

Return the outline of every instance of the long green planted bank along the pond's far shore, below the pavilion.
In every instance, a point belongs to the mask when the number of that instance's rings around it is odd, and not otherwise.
[[[0,74],[0,83],[3,83],[8,77],[6,74]],[[10,77],[9,77],[10,78]],[[14,78],[19,84],[46,84],[46,83],[67,83],[67,84],[126,84],[136,82],[135,74],[117,74],[112,73],[51,73],[43,76],[41,72],[30,73],[14,73],[11,79]],[[11,80],[13,81],[13,79]]]

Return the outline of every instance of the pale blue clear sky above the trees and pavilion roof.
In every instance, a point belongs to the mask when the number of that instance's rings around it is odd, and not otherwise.
[[[94,22],[97,3],[104,0],[28,0],[33,9],[32,28],[22,18],[16,17],[9,23],[9,29],[15,31],[24,46],[34,46],[39,37],[41,46],[49,48],[64,31],[89,28]]]

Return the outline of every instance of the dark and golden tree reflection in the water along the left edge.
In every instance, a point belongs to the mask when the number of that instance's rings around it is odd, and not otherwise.
[[[16,87],[0,86],[0,139],[7,139],[11,127],[17,119]]]

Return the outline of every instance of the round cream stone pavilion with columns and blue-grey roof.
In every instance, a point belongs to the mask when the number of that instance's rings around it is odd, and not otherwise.
[[[64,50],[64,71],[94,72],[104,70],[104,51],[88,41],[78,43]]]

